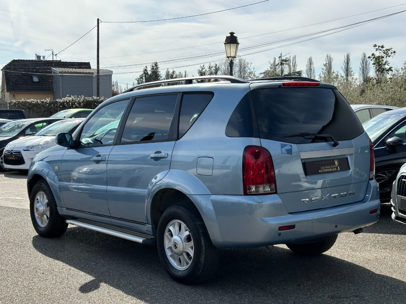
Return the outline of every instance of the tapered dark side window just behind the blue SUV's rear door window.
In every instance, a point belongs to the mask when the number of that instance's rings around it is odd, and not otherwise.
[[[182,137],[207,107],[213,93],[185,93],[179,117],[179,137]]]

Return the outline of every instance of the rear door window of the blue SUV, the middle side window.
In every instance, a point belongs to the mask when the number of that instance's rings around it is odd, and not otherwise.
[[[173,139],[170,133],[178,94],[140,97],[134,101],[121,142]]]

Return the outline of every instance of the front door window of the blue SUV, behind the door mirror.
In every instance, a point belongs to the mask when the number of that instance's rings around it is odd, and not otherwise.
[[[109,103],[100,108],[83,126],[80,144],[106,145],[114,142],[114,137],[129,99]]]

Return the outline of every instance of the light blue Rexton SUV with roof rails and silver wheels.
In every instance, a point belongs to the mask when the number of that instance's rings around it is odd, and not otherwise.
[[[379,217],[370,140],[337,89],[311,79],[148,83],[56,141],[28,173],[37,233],[73,224],[155,244],[184,284],[211,278],[220,249],[318,255]]]

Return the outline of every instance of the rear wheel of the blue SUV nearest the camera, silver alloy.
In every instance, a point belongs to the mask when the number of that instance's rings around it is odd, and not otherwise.
[[[199,213],[182,203],[167,208],[158,223],[158,253],[165,271],[182,284],[209,280],[220,263]]]

